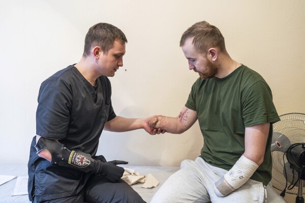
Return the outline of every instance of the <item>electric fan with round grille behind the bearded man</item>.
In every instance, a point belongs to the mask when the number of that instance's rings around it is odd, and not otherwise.
[[[305,114],[287,113],[273,124],[271,155],[274,188],[296,194],[297,203],[304,202],[305,186]],[[305,188],[305,187],[304,187]]]

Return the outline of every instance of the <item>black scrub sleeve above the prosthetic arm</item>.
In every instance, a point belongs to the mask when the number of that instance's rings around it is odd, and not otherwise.
[[[70,120],[72,90],[58,77],[45,80],[39,90],[36,134],[50,139],[65,138]]]

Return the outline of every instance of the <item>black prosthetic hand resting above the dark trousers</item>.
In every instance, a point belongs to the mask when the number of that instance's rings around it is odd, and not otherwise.
[[[106,161],[105,157],[95,156],[94,157],[94,172],[96,174],[104,175],[110,182],[116,183],[123,176],[124,168],[117,166],[117,164],[127,164],[127,161]]]

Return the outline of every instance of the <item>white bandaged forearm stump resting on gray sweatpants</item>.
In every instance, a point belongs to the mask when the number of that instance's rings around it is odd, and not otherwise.
[[[230,194],[245,184],[258,167],[255,162],[242,155],[234,166],[215,183],[215,193],[218,196]]]

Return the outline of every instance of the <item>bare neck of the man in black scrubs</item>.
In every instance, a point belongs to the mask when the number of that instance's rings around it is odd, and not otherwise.
[[[74,66],[77,68],[77,70],[81,73],[82,76],[84,76],[93,86],[95,86],[96,83],[96,76],[93,71],[93,66],[88,63],[89,60],[86,60],[86,58],[82,57],[80,61],[75,64]]]

